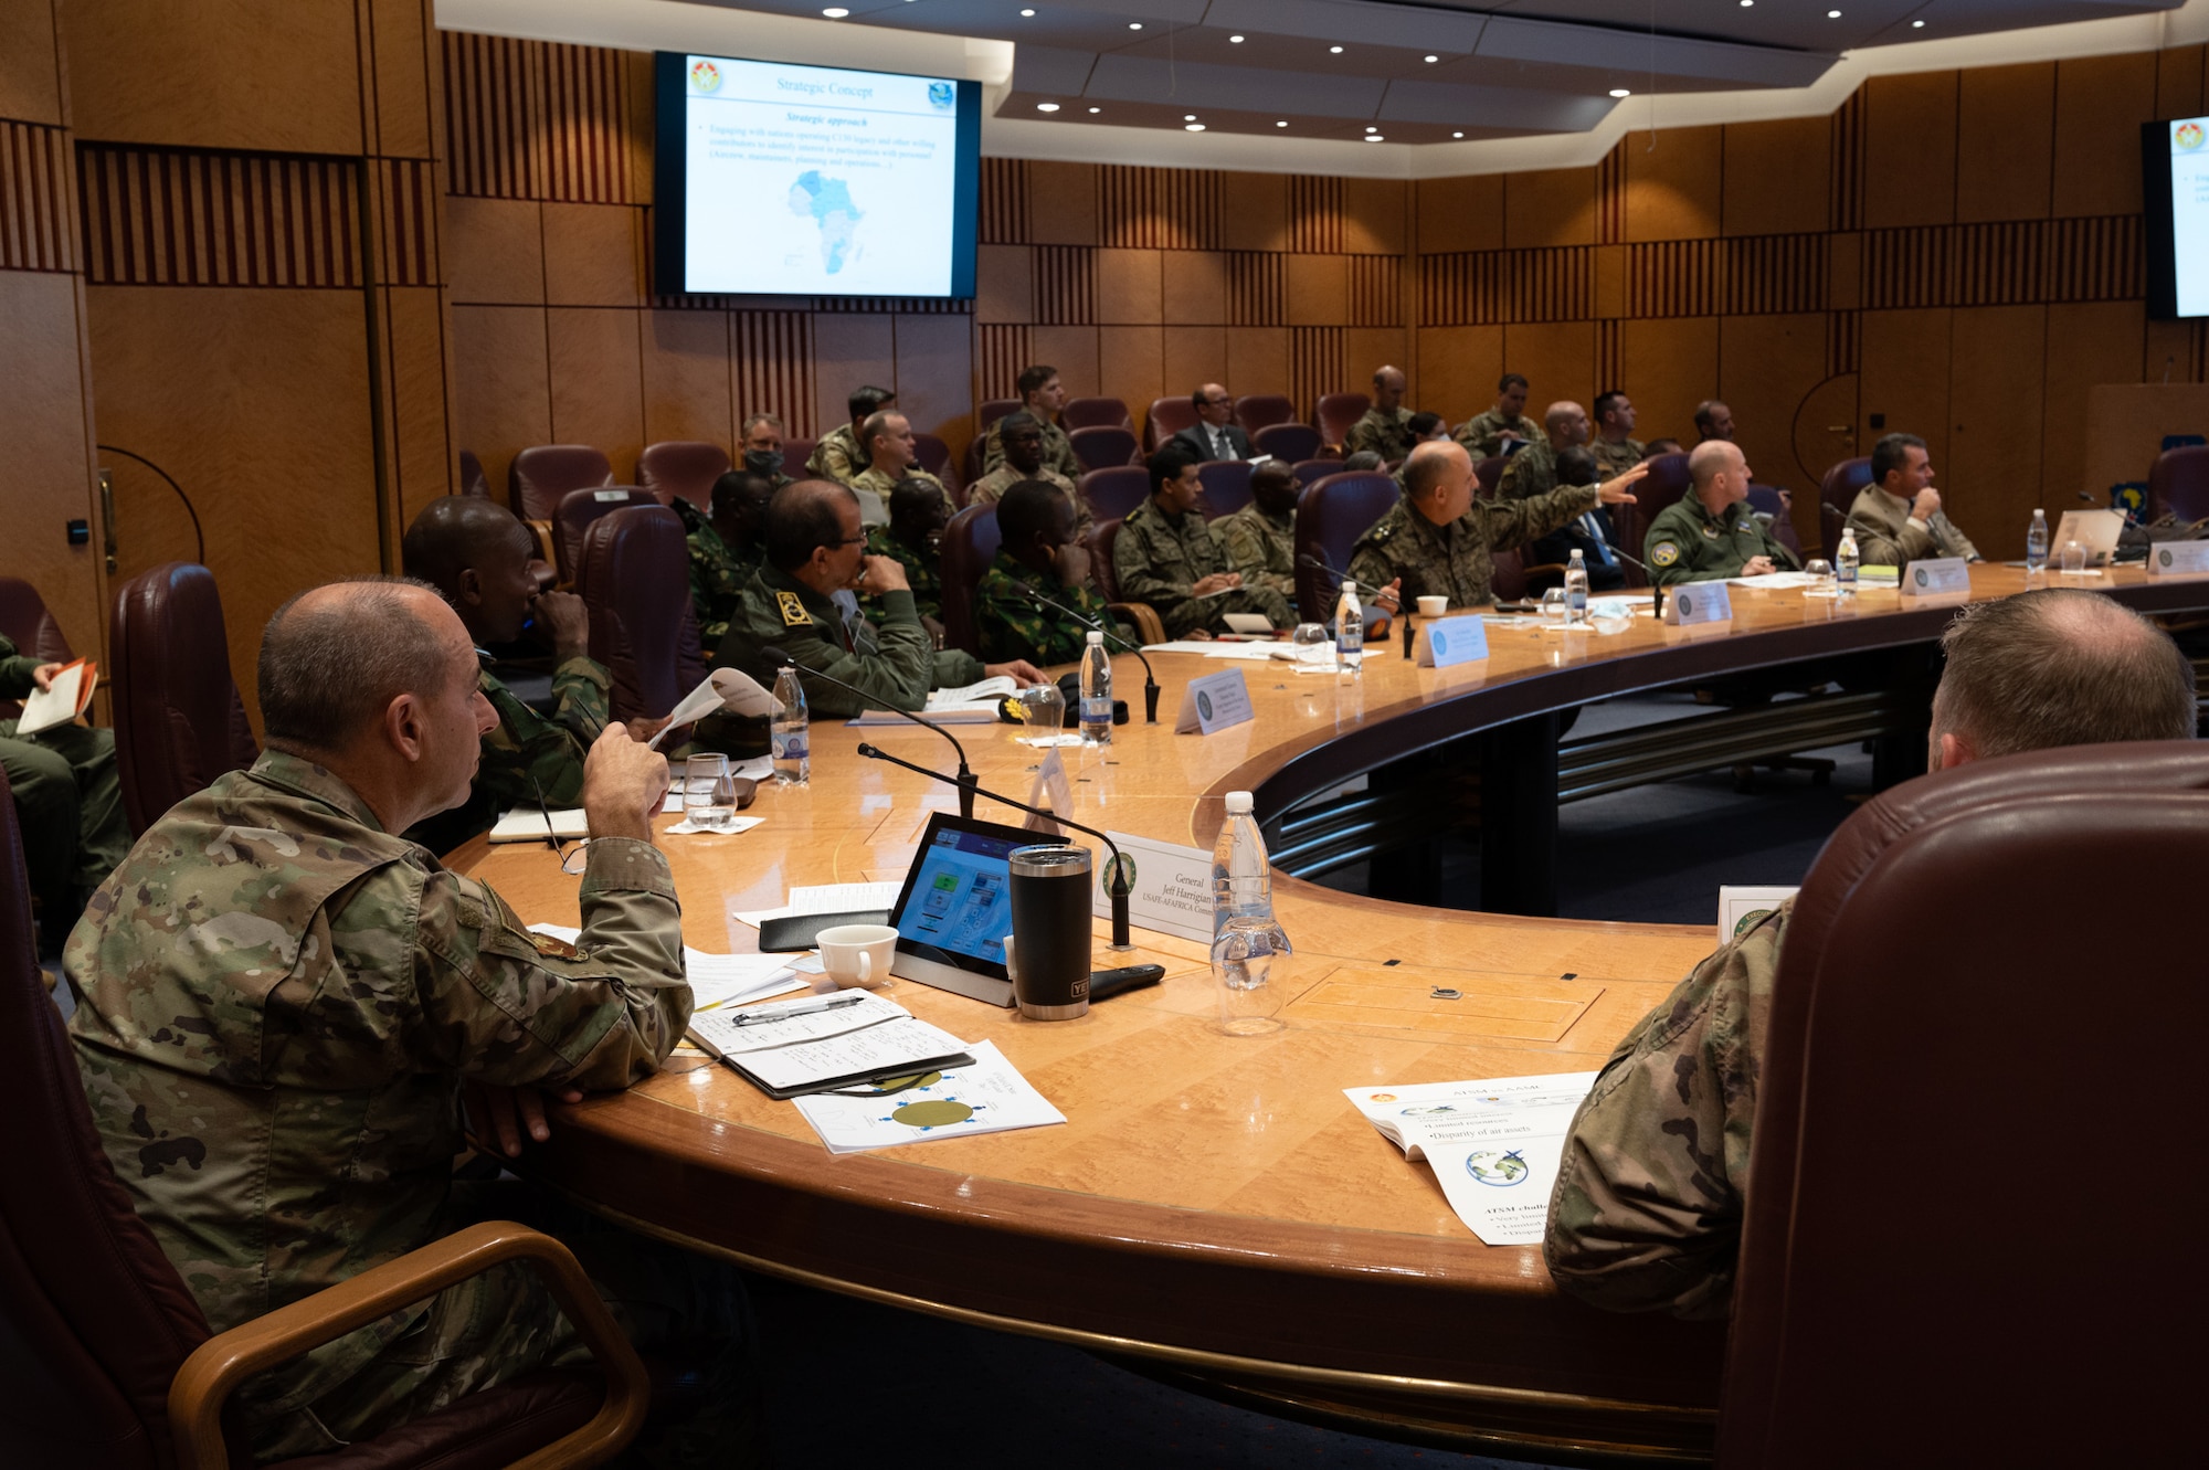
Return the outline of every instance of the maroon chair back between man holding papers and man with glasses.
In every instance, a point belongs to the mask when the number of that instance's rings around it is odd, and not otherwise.
[[[614,720],[665,715],[705,678],[676,512],[616,505],[592,521],[574,589],[590,609],[590,656],[612,675]]]

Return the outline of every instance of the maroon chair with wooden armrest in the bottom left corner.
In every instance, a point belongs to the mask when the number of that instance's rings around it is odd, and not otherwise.
[[[252,1371],[457,1280],[521,1260],[543,1271],[607,1371],[548,1368],[296,1470],[459,1470],[532,1450],[619,1452],[643,1424],[645,1366],[568,1249],[486,1223],[214,1335],[130,1207],[84,1106],[62,1013],[31,962],[15,803],[0,775],[0,1108],[20,1135],[0,1190],[0,1463],[73,1470],[243,1466],[225,1399]],[[336,1298],[336,1300],[334,1300]],[[230,1439],[230,1444],[225,1444]],[[574,1457],[572,1461],[568,1457]]]

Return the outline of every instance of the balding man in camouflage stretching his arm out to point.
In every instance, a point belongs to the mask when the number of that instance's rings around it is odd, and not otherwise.
[[[1350,550],[1350,578],[1365,600],[1365,631],[1414,598],[1445,596],[1451,609],[1493,603],[1495,563],[1599,503],[1630,503],[1635,468],[1599,486],[1564,486],[1531,501],[1476,501],[1473,459],[1462,444],[1420,444],[1403,461],[1403,499]]]

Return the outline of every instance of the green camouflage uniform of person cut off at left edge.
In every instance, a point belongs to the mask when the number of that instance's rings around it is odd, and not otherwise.
[[[0,700],[29,695],[38,667],[0,636]],[[115,731],[71,722],[15,735],[15,722],[0,720],[0,770],[15,797],[31,892],[49,905],[49,925],[66,925],[77,901],[130,852]]]

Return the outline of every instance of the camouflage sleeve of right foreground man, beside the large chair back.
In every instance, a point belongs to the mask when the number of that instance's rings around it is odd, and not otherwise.
[[[1756,1075],[1791,914],[1787,898],[1697,965],[1579,1104],[1542,1243],[1573,1296],[1681,1318],[1732,1309]]]

